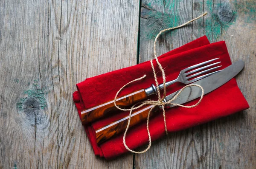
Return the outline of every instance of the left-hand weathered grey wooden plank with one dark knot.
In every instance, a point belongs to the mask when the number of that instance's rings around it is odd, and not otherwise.
[[[135,65],[137,0],[0,1],[0,169],[132,168],[94,155],[72,94]]]

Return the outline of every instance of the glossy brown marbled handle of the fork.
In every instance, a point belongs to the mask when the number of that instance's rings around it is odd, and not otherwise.
[[[138,101],[142,101],[147,98],[147,94],[144,89],[137,90],[133,93],[127,94],[125,96],[118,97],[116,99],[116,105],[120,108],[130,106]],[[118,110],[115,107],[114,100],[107,101],[105,103],[99,104],[95,107],[91,107],[87,110],[81,112],[82,124],[88,124],[99,118],[108,115],[109,112]]]

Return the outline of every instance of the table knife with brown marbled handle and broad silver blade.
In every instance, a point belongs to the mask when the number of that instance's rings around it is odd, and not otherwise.
[[[230,81],[230,79],[236,76],[243,68],[244,68],[244,62],[240,60],[228,66],[221,72],[215,73],[211,76],[208,76],[192,84],[202,86],[204,89],[204,95],[205,95],[217,89],[221,85],[224,85],[226,82]],[[171,100],[179,91],[180,90],[177,90],[176,92],[166,96],[166,98],[163,101],[167,102]],[[184,104],[188,101],[192,101],[194,99],[201,97],[201,94],[202,94],[202,91],[201,91],[201,88],[199,87],[195,87],[195,86],[186,87],[185,89],[183,89],[180,95],[177,96],[177,98],[174,101],[172,101],[172,103]],[[136,111],[133,111],[131,114],[130,127],[147,119],[148,112],[151,109],[151,107],[153,107],[153,105],[142,107],[140,109],[137,109]],[[175,105],[170,104],[169,107],[175,107]],[[160,110],[160,107],[158,106],[155,107],[151,111],[151,115],[155,114],[159,110]],[[96,130],[97,144],[101,144],[102,142],[108,140],[109,138],[119,134],[120,132],[124,132],[128,124],[128,119],[129,119],[129,115],[126,115],[125,117],[120,118],[117,121],[113,121],[111,124],[108,124],[104,127],[97,129]]]

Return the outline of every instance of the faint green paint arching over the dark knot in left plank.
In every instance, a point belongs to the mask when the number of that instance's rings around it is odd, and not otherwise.
[[[24,101],[32,97],[36,98],[40,103],[41,109],[44,109],[47,106],[44,94],[47,93],[45,93],[44,89],[40,89],[38,85],[38,80],[34,80],[34,83],[32,84],[32,89],[25,90],[23,92],[23,97],[20,98],[20,100],[17,102],[17,109],[22,110]]]

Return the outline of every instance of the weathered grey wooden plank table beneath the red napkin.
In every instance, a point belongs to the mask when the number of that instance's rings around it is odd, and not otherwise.
[[[95,157],[72,100],[76,83],[207,35],[225,40],[250,109],[154,141],[142,154]],[[218,104],[218,103],[216,103]],[[0,169],[256,167],[255,0],[1,0]]]

